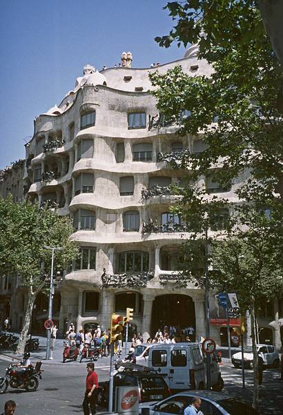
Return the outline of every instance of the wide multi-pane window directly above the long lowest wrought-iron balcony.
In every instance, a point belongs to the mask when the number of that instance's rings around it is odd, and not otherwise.
[[[119,273],[143,273],[148,271],[148,252],[121,252]]]

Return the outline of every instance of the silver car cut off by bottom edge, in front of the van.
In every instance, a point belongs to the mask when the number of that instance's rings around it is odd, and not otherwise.
[[[139,405],[139,414],[183,415],[194,396],[202,400],[199,411],[204,415],[260,415],[243,400],[213,391],[184,391],[159,402],[142,403]]]

